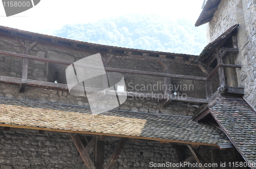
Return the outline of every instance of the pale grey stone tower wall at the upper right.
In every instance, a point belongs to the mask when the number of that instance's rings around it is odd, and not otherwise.
[[[256,1],[234,0],[221,1],[214,17],[209,22],[211,41],[220,36],[230,26],[239,23],[239,54],[235,55],[239,87],[244,87],[245,97],[256,108]]]

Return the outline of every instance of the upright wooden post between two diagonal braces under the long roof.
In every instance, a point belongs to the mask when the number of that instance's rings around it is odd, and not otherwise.
[[[104,140],[96,138],[95,149],[94,149],[94,165],[96,169],[104,168]]]

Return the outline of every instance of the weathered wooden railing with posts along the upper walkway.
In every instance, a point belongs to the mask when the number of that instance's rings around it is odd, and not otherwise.
[[[48,59],[48,58],[39,58],[39,57],[34,57],[34,56],[28,55],[28,54],[19,54],[19,53],[13,53],[13,52],[2,51],[2,50],[0,50],[0,54],[8,55],[10,57],[16,57],[16,58],[24,59],[23,76],[22,76],[23,78],[22,79],[14,78],[14,77],[0,76],[0,81],[2,81],[2,82],[13,83],[13,84],[16,84],[16,85],[25,84],[25,85],[20,85],[20,89],[19,89],[20,92],[24,91],[26,86],[68,91],[68,86],[65,85],[65,84],[27,79],[27,73],[28,73],[28,69],[27,69],[28,62],[27,62],[27,60],[48,62],[48,63],[54,63],[54,64],[68,65],[68,66],[73,64],[72,62],[53,60],[53,59]],[[82,65],[82,64],[80,64],[78,66],[79,67],[92,68],[92,69],[102,69],[102,68],[99,68],[99,67],[96,67],[96,66],[89,66],[89,65]],[[187,75],[148,72],[148,71],[139,71],[139,70],[128,70],[128,69],[118,69],[118,68],[109,68],[109,67],[105,67],[105,71],[205,81],[206,82],[206,99],[186,97],[186,99],[180,100],[178,98],[172,98],[172,96],[170,96],[170,95],[164,95],[161,99],[185,101],[185,102],[191,102],[191,103],[208,103],[207,99],[209,99],[209,97],[212,95],[210,79],[218,70],[219,70],[219,76],[220,76],[220,73],[223,74],[223,76],[224,76],[223,67],[241,68],[241,65],[228,65],[228,64],[220,63],[220,64],[217,65],[217,67],[207,77],[187,76]],[[222,70],[220,71],[221,68],[222,68]],[[225,79],[222,77],[222,75],[221,75],[221,78],[220,78],[220,84],[221,84],[221,87],[225,86]],[[102,89],[92,89],[91,88],[91,91],[95,91],[95,90],[97,90],[97,92],[99,92]],[[148,97],[157,99],[156,96],[153,96],[153,94],[150,94],[150,93],[126,92],[126,94],[127,94],[127,96],[133,96],[133,97],[137,97],[137,96],[140,96],[140,95],[143,94],[143,95],[147,95]],[[114,92],[113,92],[113,95],[115,95]]]

